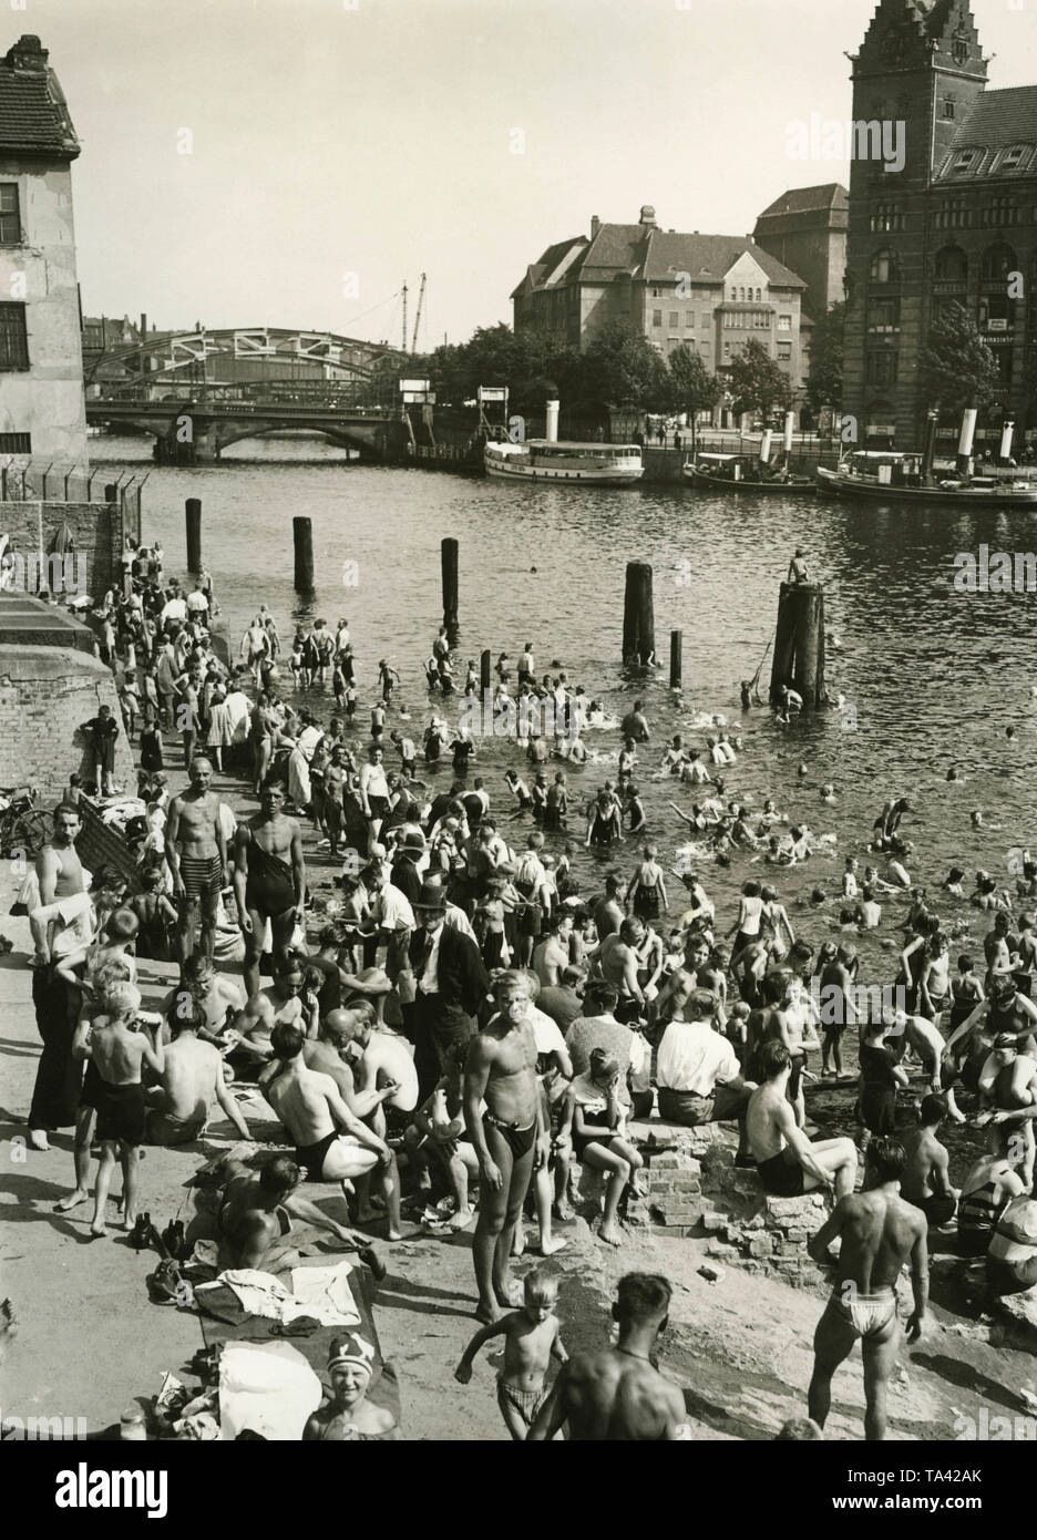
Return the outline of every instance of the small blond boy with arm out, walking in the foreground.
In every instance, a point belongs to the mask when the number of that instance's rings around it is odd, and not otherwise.
[[[536,1267],[522,1280],[522,1306],[498,1321],[482,1326],[453,1372],[459,1384],[472,1380],[475,1355],[492,1337],[504,1337],[504,1366],[496,1381],[496,1398],[512,1438],[524,1443],[533,1418],[547,1400],[544,1377],[552,1358],[565,1363],[561,1321],[555,1315],[558,1283]],[[556,1435],[559,1437],[559,1435]]]

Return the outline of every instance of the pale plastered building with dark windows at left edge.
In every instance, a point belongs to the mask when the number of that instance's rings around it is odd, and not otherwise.
[[[86,464],[76,129],[39,37],[0,60],[0,454]]]

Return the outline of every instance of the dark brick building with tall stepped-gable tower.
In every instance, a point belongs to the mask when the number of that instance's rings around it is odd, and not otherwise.
[[[1032,425],[1037,86],[986,88],[968,0],[881,0],[851,57],[854,120],[901,122],[904,163],[852,162],[843,410],[863,442],[918,445],[918,357],[957,300],[1000,365],[989,433]]]

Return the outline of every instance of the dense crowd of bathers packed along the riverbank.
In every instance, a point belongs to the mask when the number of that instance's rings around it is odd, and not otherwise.
[[[123,1223],[139,1221],[145,1140],[197,1140],[216,1107],[248,1138],[233,1087],[251,1083],[291,1138],[282,1198],[305,1180],[339,1181],[353,1223],[384,1224],[390,1241],[405,1215],[433,1230],[478,1224],[487,1327],[529,1303],[507,1272],[529,1226],[530,1246],[550,1257],[581,1206],[596,1210],[602,1243],[623,1243],[627,1207],[644,1195],[652,1118],[733,1124],[737,1163],[775,1197],[826,1189],[847,1200],[861,1155],[874,1146],[889,1170],[900,1149],[906,1201],[929,1224],[957,1223],[972,1254],[1032,1190],[1034,916],[1015,918],[1012,896],[986,873],[969,904],[958,869],[938,913],[908,872],[908,798],[891,798],[861,841],[863,873],[846,858],[838,939],[814,944],[764,876],[809,861],[829,836],[789,821],[772,798],[757,813],[724,799],[738,735],[709,724],[701,745],[675,735],[659,753],[643,699],[609,719],[558,664],[538,678],[529,644],[515,695],[505,653],[492,690],[473,659],[456,687],[461,664],[441,630],[425,667],[436,708],[421,748],[387,659],[361,742],[350,736],[357,685],[347,621],[330,630],[316,619],[290,653],[293,684],[310,699],[331,688],[337,715],[325,728],[279,693],[280,639],[265,607],[239,661],[222,662],[208,576],[185,594],[176,581],[163,585],[160,548],[128,556],[125,591],[106,594],[96,619],[136,739],[137,798],[114,785],[111,713],[99,713],[86,724],[96,775],[69,778],[22,895],[45,1043],[31,1141],[45,1149],[49,1129],[76,1126],[65,1210],[89,1198],[89,1152],[100,1149],[94,1235],[106,1232],[116,1163]],[[453,736],[438,715],[451,695]],[[473,727],[487,708],[493,725]],[[530,765],[529,784],[518,764],[502,772],[504,810],[490,764],[479,764],[481,732]],[[590,733],[616,733],[619,748],[609,778],[576,795],[569,776],[582,784],[593,772]],[[447,753],[451,779],[436,790]],[[190,776],[177,795],[168,755]],[[550,759],[558,768],[544,768]],[[239,818],[213,790],[214,770],[251,788],[259,812]],[[647,773],[701,798],[690,812],[670,804],[690,839],[667,859],[638,792]],[[831,785],[821,799],[835,799]],[[133,869],[82,870],[85,802],[120,830]],[[633,867],[607,867],[630,836]],[[586,850],[598,858],[592,892]],[[723,932],[701,878],[707,864],[741,862],[770,870],[744,878]],[[334,876],[330,896],[313,887],[322,869]],[[1023,902],[1037,898],[1029,856],[1017,886]],[[807,910],[826,898],[818,887]],[[892,904],[903,906],[886,926],[903,932],[897,967],[864,984],[852,936],[877,930]],[[951,935],[972,909],[991,924],[982,962],[961,952],[952,966]],[[154,1015],[140,1010],[137,959],[180,966]],[[237,961],[243,989],[219,970]],[[838,1083],[855,1089],[847,1132],[809,1138],[807,1089]],[[989,1126],[989,1146],[955,1189],[938,1130],[966,1115]],[[590,1209],[587,1169],[601,1178]],[[263,1252],[242,1255],[239,1266],[257,1266]],[[510,1428],[522,1406],[525,1424],[535,1421],[533,1401],[505,1400]]]

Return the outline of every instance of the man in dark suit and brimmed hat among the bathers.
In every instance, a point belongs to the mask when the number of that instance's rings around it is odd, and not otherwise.
[[[447,896],[441,882],[424,882],[414,901],[418,929],[410,942],[414,973],[414,1067],[422,1100],[442,1075],[447,1050],[475,1035],[475,1016],[488,976],[475,941],[445,924]]]

